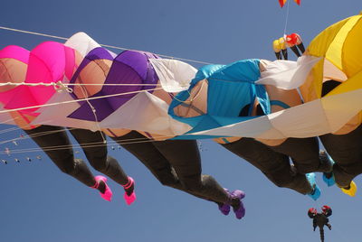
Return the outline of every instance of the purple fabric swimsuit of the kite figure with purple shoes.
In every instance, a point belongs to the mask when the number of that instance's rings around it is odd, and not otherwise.
[[[97,120],[102,121],[105,117],[110,116],[110,114],[118,107],[121,107],[129,101],[130,98],[133,98],[137,94],[137,91],[156,87],[158,78],[155,70],[148,61],[149,58],[157,58],[157,56],[142,51],[123,51],[113,59],[110,52],[103,48],[96,48],[90,51],[73,75],[71,83],[82,84],[84,83],[82,79],[89,79],[86,74],[85,77],[82,78],[80,75],[81,71],[84,70],[90,63],[97,63],[99,60],[102,62],[104,62],[103,60],[108,60],[111,61],[110,69],[107,70],[108,74],[106,79],[104,79],[104,86],[100,86],[101,88],[99,91],[94,91],[92,93],[90,92],[90,88],[92,87],[85,86],[83,89],[85,89],[87,93],[79,93],[78,95],[75,95],[74,98],[78,98],[80,95],[81,98],[84,96],[86,96],[86,98],[94,98],[121,93],[127,94],[116,97],[89,100],[90,105],[96,109]],[[101,65],[100,68],[102,68]],[[100,82],[98,83],[101,84]],[[118,83],[125,83],[129,85],[107,86],[108,84],[112,85]],[[147,86],[142,86],[142,84]],[[155,86],[148,86],[148,84],[154,84]],[[74,93],[76,93],[75,89]],[[83,101],[81,103],[81,107],[75,110],[70,117],[96,121],[89,103]]]

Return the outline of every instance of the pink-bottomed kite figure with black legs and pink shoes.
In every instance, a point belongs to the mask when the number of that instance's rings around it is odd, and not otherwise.
[[[54,58],[54,56],[58,58]],[[57,42],[43,42],[33,51],[26,51],[17,46],[9,46],[0,51],[2,63],[2,82],[10,84],[24,82],[33,84],[55,83],[71,79],[73,71],[77,69],[76,51]],[[37,110],[54,95],[53,87],[40,86],[11,86],[0,92],[0,101],[6,109],[19,109],[11,112],[14,124],[24,129],[33,141],[42,147],[62,172],[65,172],[85,185],[98,189],[100,196],[110,200],[112,192],[107,185],[107,179],[102,176],[94,177],[87,165],[80,159],[74,159],[71,142],[65,129],[59,126],[31,125],[31,121],[38,116]],[[22,107],[33,107],[24,108]],[[46,123],[45,123],[46,124]],[[90,130],[71,129],[71,134],[81,144],[91,165],[110,176],[114,181],[123,185],[126,190],[125,200],[130,204],[136,197],[133,192],[133,180],[120,168],[119,163],[107,155],[107,147],[102,144],[100,132]],[[89,147],[89,144],[93,144]],[[54,149],[54,147],[62,147]],[[30,159],[28,159],[30,160]]]

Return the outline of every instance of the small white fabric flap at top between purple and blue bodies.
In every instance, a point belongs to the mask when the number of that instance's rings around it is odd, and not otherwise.
[[[162,88],[167,92],[180,92],[190,86],[197,70],[183,62],[169,59],[150,59],[161,82]]]

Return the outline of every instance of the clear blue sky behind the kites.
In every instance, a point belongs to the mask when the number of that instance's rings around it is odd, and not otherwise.
[[[287,33],[300,33],[305,45],[329,24],[362,10],[360,0],[290,4]],[[225,64],[248,58],[273,60],[271,42],[283,34],[285,16],[286,8],[281,9],[277,0],[12,0],[1,5],[0,25],[63,37],[83,31],[104,44]],[[0,48],[17,44],[31,50],[49,40],[0,30]],[[0,139],[21,134],[7,132]],[[210,202],[162,187],[123,150],[110,149],[110,154],[137,182],[138,200],[130,207],[116,183],[110,182],[114,198],[106,202],[98,192],[59,172],[44,154],[38,161],[35,156],[41,153],[25,153],[1,157],[9,164],[0,163],[0,241],[319,241],[307,209],[324,204],[333,209],[333,230],[326,231],[326,241],[361,241],[361,191],[350,198],[336,187],[327,188],[318,175],[322,196],[315,202],[273,186],[250,164],[211,141],[202,141],[202,146],[204,172],[224,187],[246,192],[243,220],[233,214],[224,217]],[[0,149],[5,147],[16,148],[2,144]],[[23,141],[19,147],[36,145]],[[14,163],[14,158],[21,163]],[[362,184],[361,178],[356,182]]]

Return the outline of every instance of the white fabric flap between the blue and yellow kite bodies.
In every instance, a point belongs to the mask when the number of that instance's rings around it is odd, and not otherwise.
[[[282,89],[298,88],[319,60],[320,58],[312,56],[301,56],[298,61],[272,61],[262,71],[261,78],[256,83]]]

